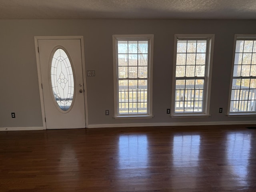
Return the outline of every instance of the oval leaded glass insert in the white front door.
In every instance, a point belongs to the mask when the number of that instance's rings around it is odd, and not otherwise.
[[[52,94],[62,112],[68,112],[74,97],[74,76],[70,59],[66,52],[58,48],[50,67]]]

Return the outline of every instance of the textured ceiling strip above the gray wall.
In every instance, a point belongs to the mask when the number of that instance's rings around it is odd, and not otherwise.
[[[256,19],[256,0],[0,0],[0,19]]]

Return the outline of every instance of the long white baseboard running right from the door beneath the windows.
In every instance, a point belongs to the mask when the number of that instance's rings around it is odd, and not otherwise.
[[[197,126],[197,125],[235,125],[256,124],[256,121],[222,121],[222,122],[178,122],[178,123],[127,123],[127,124],[91,124],[87,128],[111,127],[154,127],[154,126]]]

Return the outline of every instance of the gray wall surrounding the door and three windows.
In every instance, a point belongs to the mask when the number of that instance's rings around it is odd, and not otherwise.
[[[256,20],[0,20],[0,29],[0,127],[42,126],[34,36],[84,36],[86,70],[96,71],[95,77],[86,77],[89,125],[255,120],[225,114],[234,34],[256,34]],[[154,34],[152,119],[112,118],[113,34]],[[215,34],[209,118],[166,114],[171,107],[174,34]],[[105,116],[106,109],[110,116]]]

